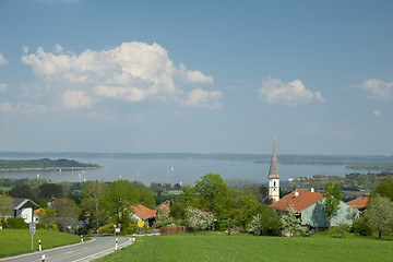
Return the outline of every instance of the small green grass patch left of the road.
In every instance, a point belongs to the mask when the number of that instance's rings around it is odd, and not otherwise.
[[[33,236],[34,251],[38,251],[38,239],[41,240],[43,250],[81,241],[81,237],[76,235],[36,230]],[[28,229],[2,229],[0,230],[0,258],[33,252],[32,235]]]

